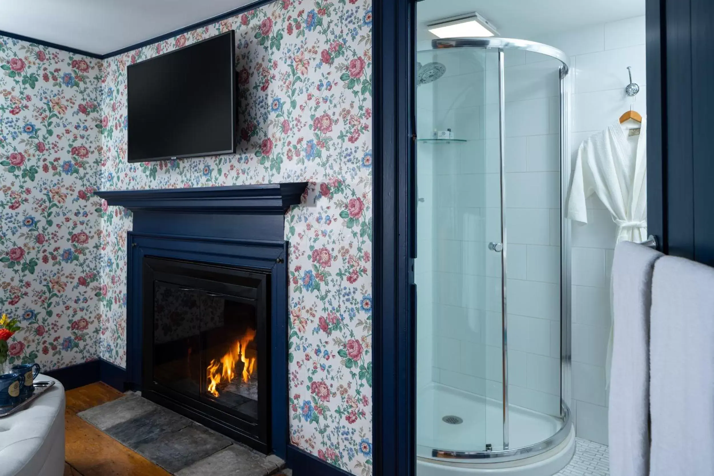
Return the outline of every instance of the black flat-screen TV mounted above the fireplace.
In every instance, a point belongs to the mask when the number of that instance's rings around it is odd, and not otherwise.
[[[235,151],[235,31],[126,68],[129,162]]]

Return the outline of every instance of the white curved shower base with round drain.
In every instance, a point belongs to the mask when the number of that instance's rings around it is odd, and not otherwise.
[[[451,425],[446,415],[461,417]],[[534,445],[560,430],[562,422],[551,415],[509,405],[511,449]],[[511,462],[434,462],[431,450],[482,451],[486,444],[503,450],[503,405],[496,400],[430,383],[417,399],[417,476],[503,475],[550,476],[568,464],[575,451],[575,432],[557,447],[540,455]],[[550,472],[552,471],[552,472]]]

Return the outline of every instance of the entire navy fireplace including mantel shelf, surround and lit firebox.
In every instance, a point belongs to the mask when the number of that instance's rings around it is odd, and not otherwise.
[[[307,183],[103,191],[127,240],[127,386],[285,458],[284,214]]]

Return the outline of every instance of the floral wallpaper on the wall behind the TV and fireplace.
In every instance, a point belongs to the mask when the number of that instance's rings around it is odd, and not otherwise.
[[[280,0],[106,59],[99,120],[99,188],[311,182],[286,215],[291,440],[358,475],[372,472],[371,24],[370,0]],[[127,163],[126,66],[229,29],[238,153]],[[99,210],[99,354],[123,366],[131,216]]]

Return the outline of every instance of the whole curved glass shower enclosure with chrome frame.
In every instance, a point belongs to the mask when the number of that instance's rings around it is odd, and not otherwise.
[[[571,427],[568,59],[459,38],[417,61],[417,455],[538,455]]]

